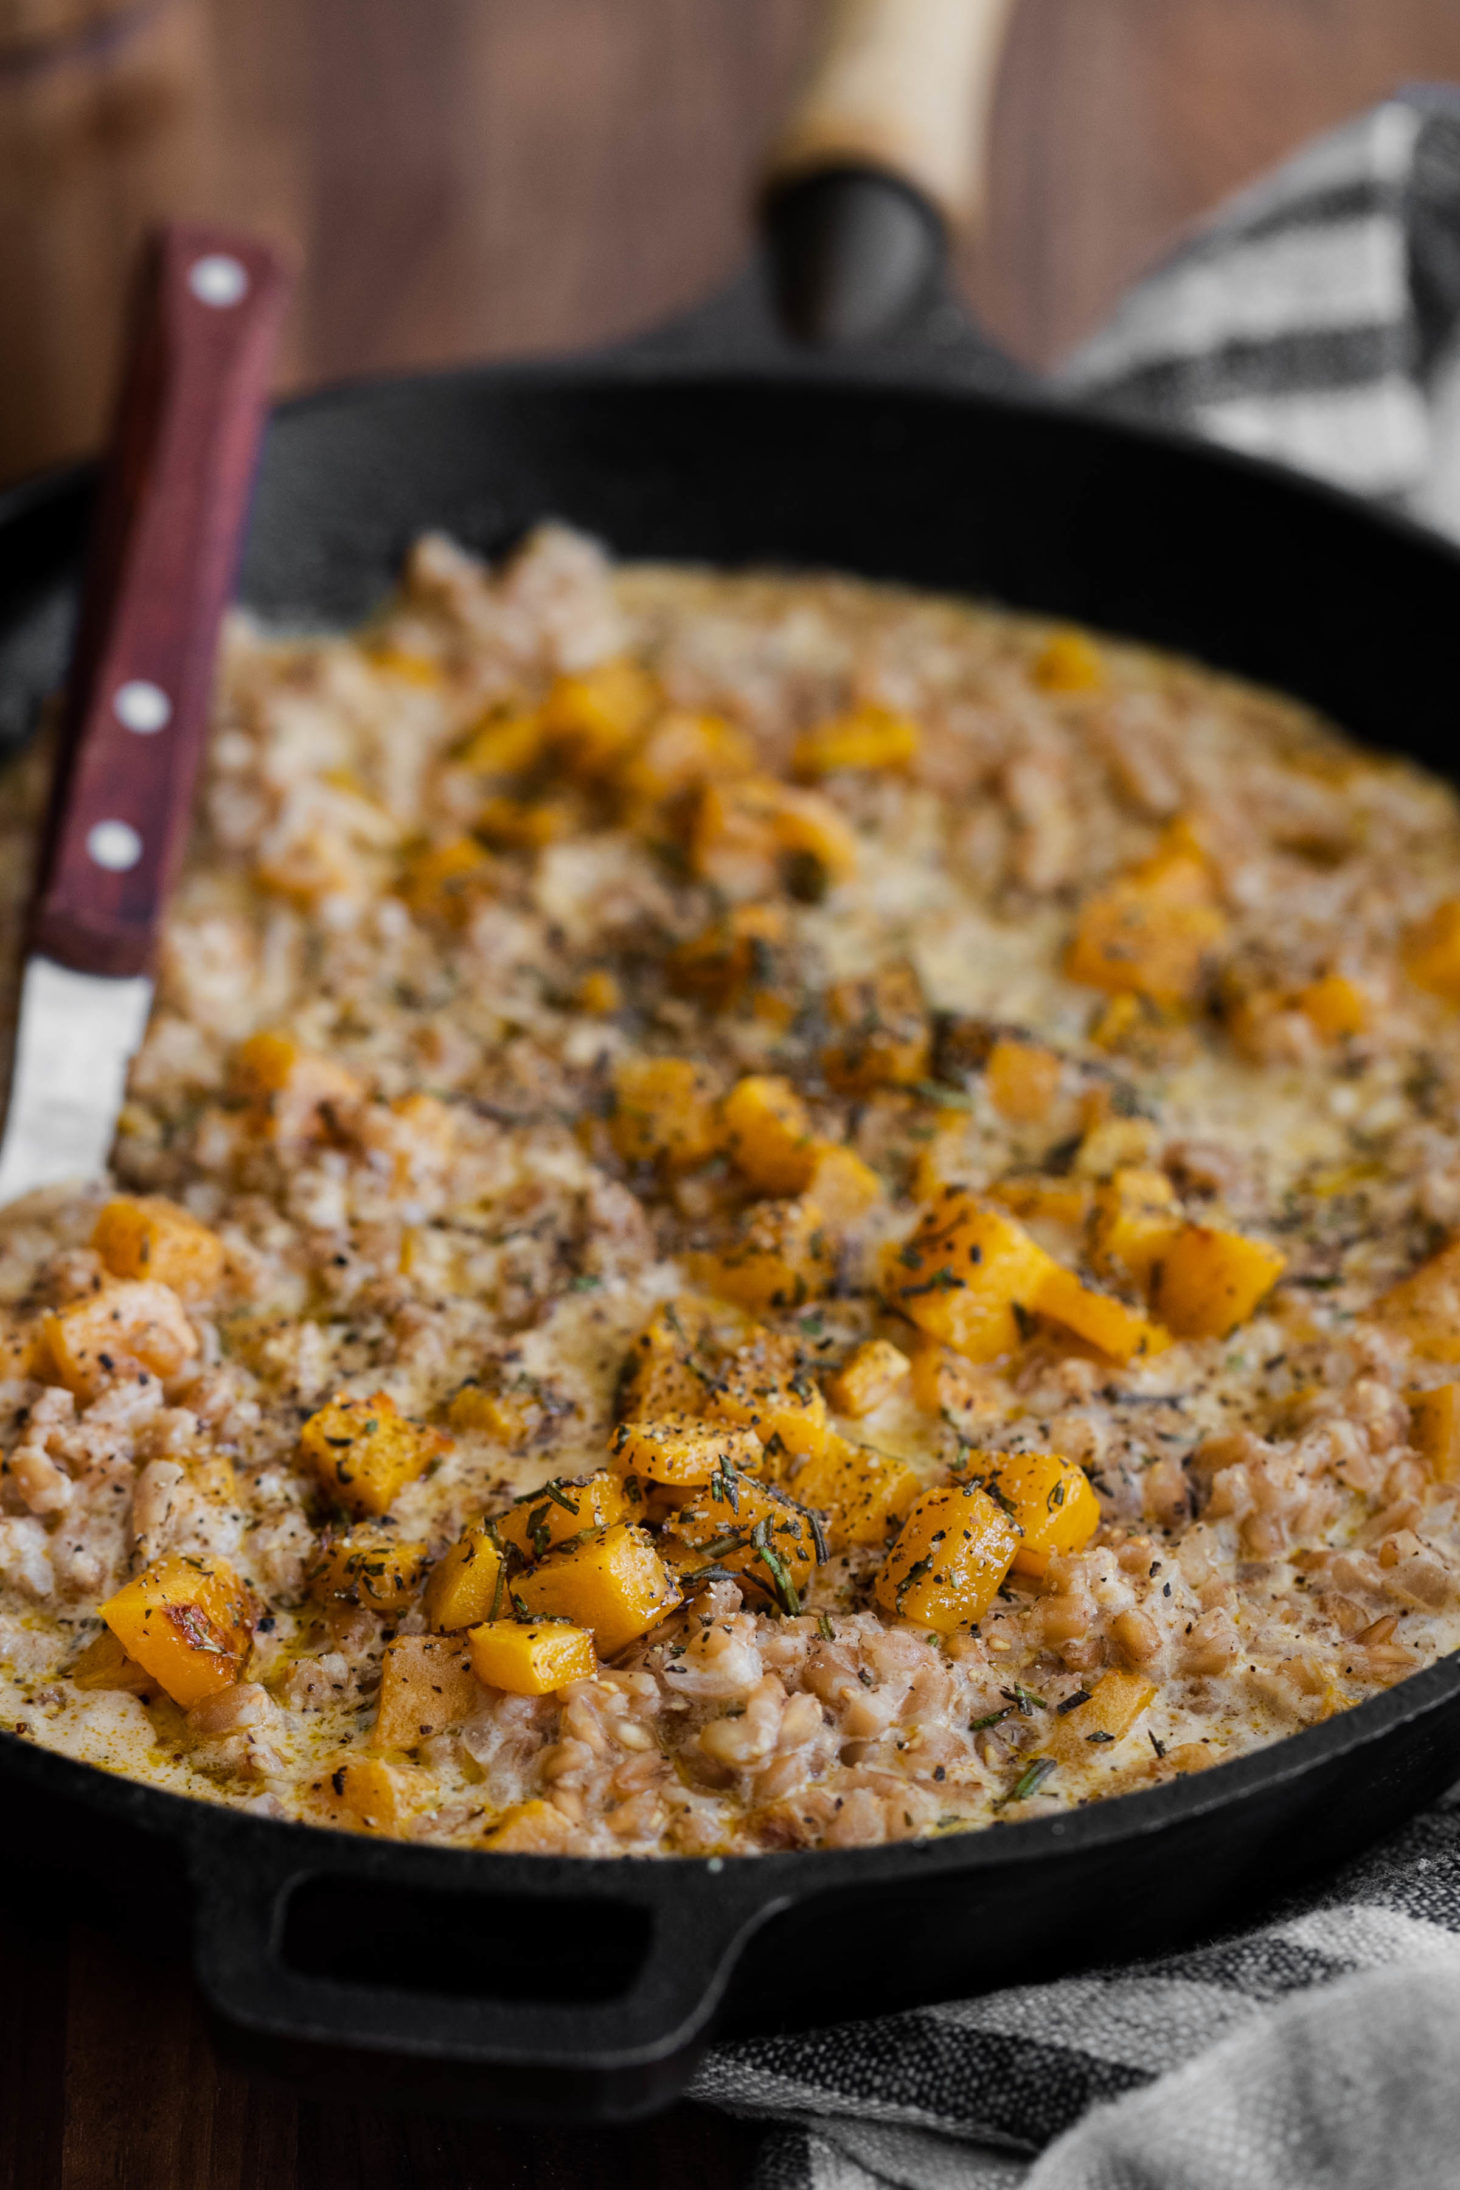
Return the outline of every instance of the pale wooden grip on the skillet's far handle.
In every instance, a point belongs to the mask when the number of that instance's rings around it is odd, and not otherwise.
[[[816,57],[773,145],[770,188],[873,166],[961,223],[978,210],[1013,0],[830,0]]]

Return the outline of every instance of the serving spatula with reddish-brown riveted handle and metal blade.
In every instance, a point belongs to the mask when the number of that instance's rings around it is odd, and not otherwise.
[[[250,237],[149,245],[26,929],[0,1204],[103,1172],[151,1010],[289,293]]]

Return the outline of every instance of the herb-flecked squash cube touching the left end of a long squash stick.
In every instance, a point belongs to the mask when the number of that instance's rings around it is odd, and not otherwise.
[[[1016,1218],[950,1189],[906,1246],[889,1255],[884,1290],[930,1338],[987,1362],[1029,1334],[1055,1268]]]

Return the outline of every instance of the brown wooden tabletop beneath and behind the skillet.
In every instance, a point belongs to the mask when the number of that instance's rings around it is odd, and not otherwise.
[[[814,0],[0,0],[0,477],[101,429],[155,212],[302,250],[289,385],[593,342],[722,280]],[[1456,0],[1020,0],[961,274],[1046,361],[1224,191],[1392,85]],[[24,1881],[9,1897],[24,1905]],[[744,2124],[506,2129],[300,2100],[186,1967],[0,1914],[0,2190],[729,2190]]]

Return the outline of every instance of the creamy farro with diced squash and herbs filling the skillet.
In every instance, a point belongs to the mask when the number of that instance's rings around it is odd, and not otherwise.
[[[1460,1642],[1458,1097],[1460,804],[1291,701],[554,526],[234,620],[116,1176],[0,1213],[0,1724],[582,1855],[1311,1726]]]

